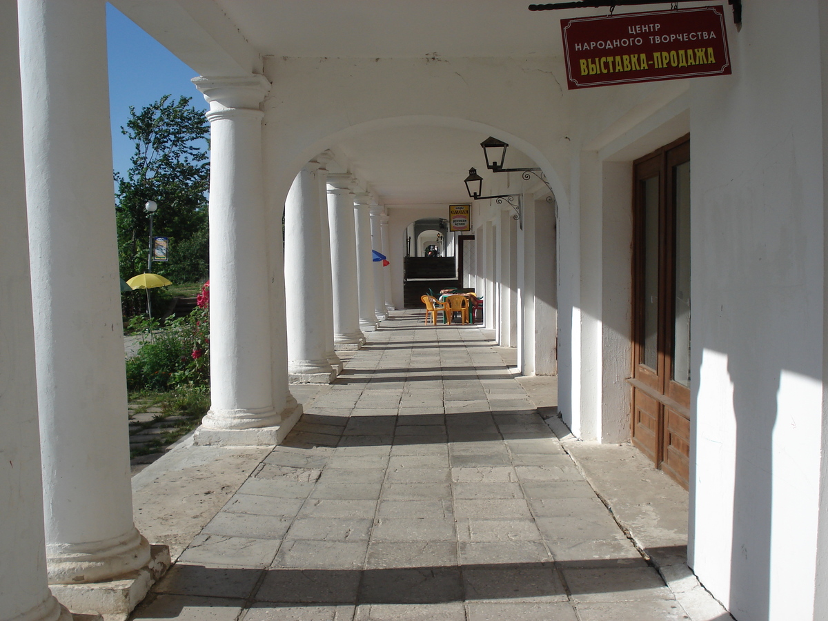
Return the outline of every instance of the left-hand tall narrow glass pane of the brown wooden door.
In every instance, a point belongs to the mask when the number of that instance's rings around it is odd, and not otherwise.
[[[658,177],[642,181],[644,200],[643,360],[658,367]]]

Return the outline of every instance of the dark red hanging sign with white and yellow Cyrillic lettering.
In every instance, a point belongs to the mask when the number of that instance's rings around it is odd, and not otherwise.
[[[570,89],[729,75],[722,7],[561,20]]]

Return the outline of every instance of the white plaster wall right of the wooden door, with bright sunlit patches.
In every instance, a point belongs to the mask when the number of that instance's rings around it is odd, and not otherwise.
[[[752,2],[734,75],[691,84],[691,562],[739,621],[825,614],[819,4]]]

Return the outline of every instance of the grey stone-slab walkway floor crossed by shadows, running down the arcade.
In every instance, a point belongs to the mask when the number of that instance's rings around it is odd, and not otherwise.
[[[369,341],[135,619],[691,619],[481,330]]]

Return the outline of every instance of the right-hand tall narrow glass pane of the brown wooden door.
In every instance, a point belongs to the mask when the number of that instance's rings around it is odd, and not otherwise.
[[[672,379],[690,387],[690,162],[673,169],[676,188],[676,297]]]

